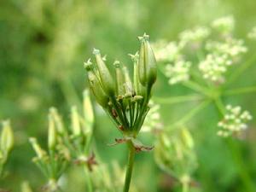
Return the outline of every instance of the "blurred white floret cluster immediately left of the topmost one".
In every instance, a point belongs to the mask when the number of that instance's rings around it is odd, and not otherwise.
[[[188,43],[200,43],[210,35],[210,29],[206,26],[197,26],[194,29],[188,29],[180,33],[180,46]]]

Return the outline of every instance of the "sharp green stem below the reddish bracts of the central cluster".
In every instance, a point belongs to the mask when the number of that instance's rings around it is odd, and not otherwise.
[[[125,186],[123,192],[128,192],[130,188],[131,183],[131,173],[133,168],[133,162],[134,162],[134,156],[135,156],[135,148],[132,145],[131,141],[128,141],[127,143],[129,154],[128,154],[128,163],[126,168],[126,174],[125,174]]]

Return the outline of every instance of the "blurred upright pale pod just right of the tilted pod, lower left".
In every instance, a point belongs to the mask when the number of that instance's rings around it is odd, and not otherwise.
[[[57,143],[57,133],[55,129],[55,121],[53,116],[49,113],[49,127],[48,127],[48,148],[53,150]]]

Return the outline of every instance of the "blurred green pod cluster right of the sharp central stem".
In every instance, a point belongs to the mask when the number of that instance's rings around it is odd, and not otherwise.
[[[161,132],[158,137],[154,148],[154,159],[158,166],[181,183],[190,183],[197,159],[193,137],[188,129],[179,128],[172,134]]]

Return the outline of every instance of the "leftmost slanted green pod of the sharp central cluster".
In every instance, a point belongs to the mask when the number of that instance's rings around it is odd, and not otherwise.
[[[96,98],[96,102],[98,102],[102,108],[106,108],[108,106],[108,96],[105,94],[104,90],[102,89],[102,84],[100,80],[97,79],[96,74],[93,72],[92,63],[89,61],[84,63],[84,67],[87,70],[90,90],[92,91],[93,95]]]

